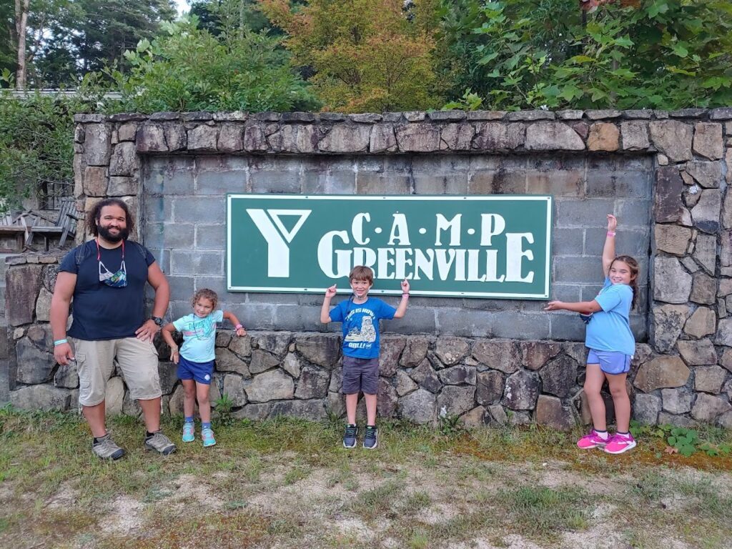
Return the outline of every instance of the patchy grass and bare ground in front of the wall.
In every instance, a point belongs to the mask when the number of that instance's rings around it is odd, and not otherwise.
[[[203,449],[167,418],[178,452],[163,458],[138,419],[109,427],[128,452],[116,463],[73,414],[0,408],[0,547],[732,546],[732,455],[668,454],[652,436],[611,456],[576,449],[579,431],[382,422],[378,449],[347,450],[340,422],[279,418],[214,422]]]

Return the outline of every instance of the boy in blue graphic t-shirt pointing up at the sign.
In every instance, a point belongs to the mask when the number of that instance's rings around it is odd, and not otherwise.
[[[321,322],[343,323],[343,393],[346,395],[348,425],[343,435],[343,446],[356,446],[356,404],[359,391],[366,401],[366,435],[364,448],[378,445],[376,430],[376,394],[378,393],[378,321],[381,318],[403,318],[409,302],[409,283],[402,280],[402,299],[395,309],[381,299],[369,297],[373,285],[373,271],[363,265],[355,266],[348,275],[353,295],[330,310],[330,300],[335,296],[335,284],[328,288],[323,299]]]

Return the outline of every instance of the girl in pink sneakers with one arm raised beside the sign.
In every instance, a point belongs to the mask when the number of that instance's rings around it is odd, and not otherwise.
[[[630,255],[615,255],[617,225],[615,216],[608,214],[608,235],[602,249],[605,285],[600,294],[589,302],[553,301],[545,307],[545,310],[564,309],[580,313],[587,324],[585,346],[589,348],[589,353],[584,390],[593,428],[580,438],[577,446],[582,449],[602,447],[609,454],[627,452],[636,444],[629,430],[630,397],[625,379],[635,353],[629,315],[638,296],[638,261]],[[613,397],[618,428],[612,437],[608,435],[605,425],[605,401],[600,395],[606,379]]]

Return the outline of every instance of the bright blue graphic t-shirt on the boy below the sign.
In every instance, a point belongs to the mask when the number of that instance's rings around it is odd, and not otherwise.
[[[375,359],[378,356],[378,321],[391,320],[397,310],[381,299],[369,297],[356,304],[346,299],[330,311],[332,322],[343,322],[343,354],[357,359]]]

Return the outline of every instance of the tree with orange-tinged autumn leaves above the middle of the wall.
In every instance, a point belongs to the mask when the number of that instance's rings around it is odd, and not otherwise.
[[[433,2],[310,0],[293,10],[286,0],[259,0],[285,29],[287,48],[314,72],[329,111],[433,108],[441,103],[433,71]]]

